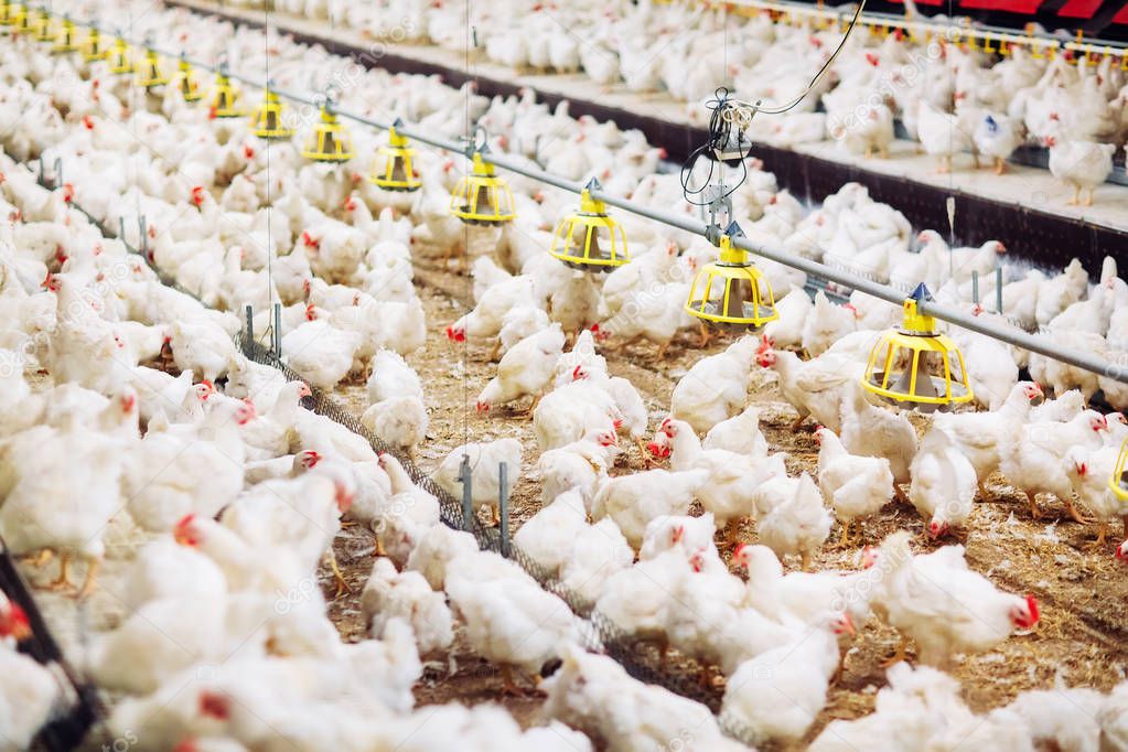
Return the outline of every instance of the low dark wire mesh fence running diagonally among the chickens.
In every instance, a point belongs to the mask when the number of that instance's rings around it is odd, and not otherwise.
[[[288,366],[274,352],[253,339],[248,339],[243,333],[236,337],[236,344],[249,360],[280,370],[290,381],[306,381],[300,373]],[[439,487],[409,458],[394,450],[368,430],[331,395],[316,388],[310,388],[310,391],[312,395],[303,399],[303,407],[324,415],[362,436],[377,452],[387,452],[395,457],[416,485],[439,499],[440,516],[444,524],[457,530],[466,530],[473,534],[482,550],[502,554],[501,531],[497,528],[483,524],[476,515],[466,520],[461,502]],[[711,675],[711,666],[703,665],[696,660],[680,654],[669,658],[664,655],[666,651],[656,644],[638,639],[635,635],[619,628],[608,617],[596,610],[594,603],[566,587],[553,573],[548,572],[519,546],[510,543],[508,557],[546,591],[563,600],[572,612],[583,620],[581,634],[585,647],[607,654],[622,664],[628,674],[640,681],[658,684],[676,695],[700,702],[713,713],[720,710],[721,691],[707,680]],[[739,728],[732,722],[725,722],[722,728],[737,740],[752,743],[747,729]]]

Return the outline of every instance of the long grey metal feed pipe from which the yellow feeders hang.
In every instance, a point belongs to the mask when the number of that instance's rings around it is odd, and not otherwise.
[[[80,26],[97,28],[96,24],[89,21],[73,20],[73,23]],[[193,60],[191,57],[187,57],[186,55],[168,53],[158,47],[153,47],[152,45],[147,45],[143,43],[138,44],[129,38],[125,37],[122,38],[126,43],[133,46],[140,46],[148,50],[152,50],[153,52],[157,52],[158,54],[165,57],[175,60],[175,59],[180,59],[183,56],[183,59],[190,62],[192,65],[195,65],[203,70],[218,71],[220,69],[220,67],[218,65],[212,65],[203,61]],[[254,79],[239,76],[230,71],[226,72],[231,79],[240,81],[247,86],[250,86],[252,88],[257,88],[257,89],[265,88],[264,81],[256,81]],[[291,91],[283,91],[280,89],[275,89],[273,87],[271,88],[271,90],[277,94],[280,97],[284,97],[287,99],[290,99],[291,101],[297,101],[310,106],[318,106],[320,104],[314,97],[307,97]],[[336,107],[333,108],[333,112],[336,113],[340,117],[345,117],[347,120],[381,131],[387,131],[393,125],[393,123],[377,121],[370,117],[365,117],[363,115],[355,115],[353,113],[337,109]],[[420,143],[425,143],[428,145],[434,147],[437,149],[443,149],[446,151],[461,153],[467,157],[469,157],[474,151],[473,143],[467,144],[465,142],[456,142],[442,138],[437,138],[428,133],[424,133],[416,126],[409,124],[396,125],[396,132],[407,136],[408,139],[418,141]],[[553,175],[552,172],[546,172],[544,170],[529,167],[525,163],[518,162],[517,160],[510,157],[500,156],[487,151],[482,153],[482,159],[502,169],[515,172],[518,175],[523,175],[525,177],[535,180],[537,183],[544,183],[546,185],[555,186],[557,188],[561,188],[563,191],[569,191],[574,194],[580,194],[584,188],[584,184],[582,183],[569,180],[558,175]],[[611,206],[616,206],[617,209],[631,212],[632,214],[637,214],[638,216],[653,220],[661,224],[677,228],[679,230],[684,230],[691,235],[700,236],[703,238],[708,239],[714,245],[716,244],[719,228],[716,228],[715,225],[710,227],[706,225],[704,222],[699,222],[688,216],[682,216],[679,214],[675,214],[672,212],[662,211],[660,209],[652,209],[650,206],[644,206],[642,204],[637,204],[620,196],[610,195],[603,191],[591,191],[591,196],[596,200],[603,201]],[[906,294],[895,287],[881,284],[879,282],[873,282],[872,280],[866,280],[858,275],[851,274],[849,272],[831,268],[826,264],[821,264],[819,262],[811,260],[809,258],[803,258],[801,256],[793,256],[791,254],[787,254],[781,248],[776,248],[764,244],[756,244],[748,238],[732,238],[732,244],[735,247],[747,250],[751,254],[763,256],[764,258],[770,259],[778,264],[783,264],[784,266],[790,266],[792,268],[804,272],[809,275],[822,277],[825,280],[829,280],[846,287],[858,290],[867,295],[880,298],[881,300],[884,300],[898,307],[901,306],[906,299]],[[1006,344],[1014,345],[1023,350],[1028,350],[1032,353],[1038,353],[1040,355],[1045,355],[1047,357],[1061,361],[1064,363],[1068,363],[1069,365],[1074,365],[1084,371],[1089,371],[1091,373],[1095,373],[1098,375],[1102,375],[1112,379],[1114,381],[1119,381],[1121,383],[1128,383],[1128,363],[1112,363],[1101,357],[1098,357],[1093,353],[1082,352],[1078,350],[1074,350],[1072,347],[1060,347],[1054,344],[1052,342],[1049,342],[1045,337],[1031,335],[1017,328],[1002,327],[996,325],[992,320],[981,319],[979,317],[971,316],[970,313],[964,313],[963,311],[950,308],[948,306],[942,306],[935,301],[922,301],[918,303],[918,308],[922,313],[933,316],[937,319],[942,319],[944,321],[948,321],[949,324],[953,324],[970,331],[976,331],[987,337],[998,339],[999,342],[1004,342]]]

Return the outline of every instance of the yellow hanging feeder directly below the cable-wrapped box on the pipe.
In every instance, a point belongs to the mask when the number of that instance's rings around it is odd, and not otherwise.
[[[749,260],[748,251],[732,246],[732,238],[743,236],[735,222],[725,229],[720,258],[694,277],[687,313],[708,324],[739,328],[759,328],[779,318],[767,277]]]

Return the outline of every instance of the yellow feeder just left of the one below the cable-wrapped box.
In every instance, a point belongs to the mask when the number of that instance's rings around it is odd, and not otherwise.
[[[607,204],[592,198],[603,186],[591,178],[580,194],[580,210],[561,220],[548,253],[581,271],[610,272],[631,260],[623,225],[607,213]]]

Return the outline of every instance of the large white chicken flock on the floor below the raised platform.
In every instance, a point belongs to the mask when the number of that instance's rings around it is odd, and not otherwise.
[[[689,211],[637,133],[573,121],[529,96],[456,96],[433,79],[362,72],[285,37],[144,3],[98,10],[111,24],[134,11],[138,30],[201,41],[252,77],[265,78],[265,48],[282,89],[349,80],[342,106],[352,112],[408,113],[457,133],[468,103],[500,151],[531,124],[582,138],[608,167],[609,191]],[[574,197],[513,178],[518,220],[500,232],[466,229],[447,211],[462,169],[455,156],[421,151],[423,191],[385,193],[363,167],[306,163],[289,142],[209,117],[175,87],[147,94],[104,62],[52,56],[26,38],[0,47],[0,110],[23,116],[0,135],[0,536],[38,587],[91,599],[123,531],[143,541],[112,584],[124,594],[120,623],[90,635],[81,656],[115,698],[112,735],[179,750],[788,743],[808,735],[856,632],[876,619],[902,638],[888,687],[873,714],[831,723],[812,749],[852,749],[876,733],[891,750],[967,738],[1014,750],[1128,745],[1125,685],[1024,692],[977,714],[944,673],[1039,622],[1034,598],[998,587],[950,542],[975,533],[996,470],[1025,498],[1016,515],[1037,519],[1054,499],[1095,522],[1099,546],[1126,516],[1105,484],[1128,422],[1089,407],[1100,392],[1128,408],[1119,382],[952,330],[982,409],[910,419],[858,384],[898,309],[857,293],[812,301],[802,275],[767,264],[773,284],[790,289],[781,319],[726,337],[655,417],[600,351],[645,339],[664,353],[715,336],[681,308],[713,253],[700,239],[623,218],[632,263],[606,277],[578,272],[545,253],[548,222]],[[374,136],[354,138],[358,153],[372,153]],[[41,156],[53,189],[21,165]],[[914,233],[856,184],[808,210],[755,166],[734,198],[746,228],[793,253],[925,281],[938,299],[1110,359],[1128,346],[1128,284],[1111,258],[1092,271],[1095,284],[1079,263],[1060,274],[1008,269],[1004,316],[967,290],[971,271],[989,285],[1006,251],[998,244],[949,248],[935,232]],[[104,235],[76,205],[124,236]],[[468,257],[476,304],[444,335],[475,359],[497,359],[475,419],[531,421],[536,457],[515,439],[478,441],[453,449],[433,479],[461,497],[468,458],[474,506],[496,511],[500,462],[510,486],[537,478],[543,504],[513,545],[548,589],[444,525],[439,499],[397,459],[429,427],[426,374],[408,363],[429,331],[414,264]],[[235,344],[246,307],[262,333],[274,301],[283,357],[303,381]],[[1020,368],[1034,380],[1021,381]],[[311,387],[345,380],[367,384],[361,423],[396,454],[303,406]],[[814,427],[809,472],[788,472],[759,428],[749,391],[764,380],[794,408],[795,430]],[[631,472],[632,455],[655,467]],[[869,532],[895,499],[919,512],[918,528]],[[317,584],[323,561],[336,567],[346,524],[371,529],[377,547],[360,596],[368,634],[355,643],[342,642]],[[856,568],[809,572],[836,524]],[[928,552],[914,551],[915,533]],[[592,644],[596,622],[663,660],[695,660],[706,685],[724,688],[720,715],[632,678]],[[12,749],[61,699],[51,671],[11,649],[29,629],[19,605],[0,601],[0,740]],[[506,690],[537,684],[543,725],[522,728],[496,705],[415,707],[424,661],[458,636]],[[917,666],[897,662],[914,644]],[[1085,723],[1059,723],[1075,707],[1091,709]]]

